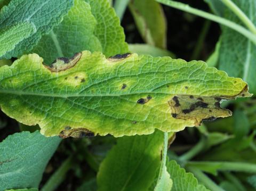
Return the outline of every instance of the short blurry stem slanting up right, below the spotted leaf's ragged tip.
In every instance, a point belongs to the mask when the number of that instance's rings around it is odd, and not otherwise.
[[[202,137],[199,142],[191,148],[187,153],[182,154],[179,159],[180,161],[188,161],[200,153],[205,147],[205,137]]]

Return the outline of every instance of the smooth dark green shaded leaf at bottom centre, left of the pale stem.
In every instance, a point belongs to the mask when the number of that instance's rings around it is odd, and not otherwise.
[[[99,190],[147,190],[159,169],[162,146],[163,132],[158,130],[151,135],[118,138],[100,165]]]

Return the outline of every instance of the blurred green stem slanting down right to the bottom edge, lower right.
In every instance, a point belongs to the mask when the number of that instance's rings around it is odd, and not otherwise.
[[[219,187],[217,184],[215,184],[215,182],[212,181],[209,177],[207,177],[201,170],[198,170],[193,167],[188,167],[187,170],[192,172],[193,175],[198,179],[198,181],[202,182],[210,190],[225,191],[221,187]]]

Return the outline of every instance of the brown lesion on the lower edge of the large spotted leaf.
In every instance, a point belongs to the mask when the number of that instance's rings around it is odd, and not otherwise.
[[[77,128],[72,129],[71,127],[65,127],[65,130],[62,130],[59,134],[61,138],[67,137],[75,137],[75,138],[82,138],[82,137],[94,137],[94,132],[85,129],[85,128]]]

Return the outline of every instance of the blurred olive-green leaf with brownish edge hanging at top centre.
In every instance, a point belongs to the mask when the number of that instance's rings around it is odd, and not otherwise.
[[[143,40],[166,48],[166,19],[162,6],[154,0],[134,0],[129,8]]]

